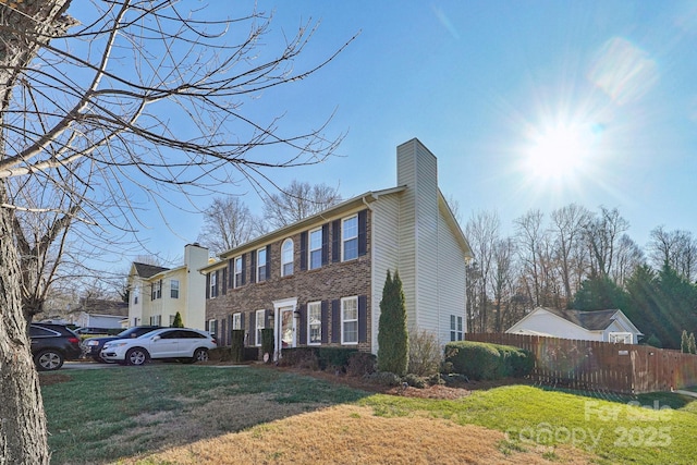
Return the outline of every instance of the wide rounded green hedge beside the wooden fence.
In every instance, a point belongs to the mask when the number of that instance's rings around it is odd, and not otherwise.
[[[500,379],[529,374],[535,360],[529,352],[511,345],[458,341],[445,345],[445,363],[472,379]]]

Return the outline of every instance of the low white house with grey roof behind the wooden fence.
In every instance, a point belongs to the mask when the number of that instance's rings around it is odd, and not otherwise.
[[[582,311],[547,307],[535,308],[506,332],[626,344],[636,344],[644,335],[619,309]]]

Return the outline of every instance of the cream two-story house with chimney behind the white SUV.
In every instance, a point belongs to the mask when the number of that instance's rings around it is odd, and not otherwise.
[[[133,262],[129,273],[129,326],[171,326],[179,311],[186,328],[204,329],[206,277],[198,272],[208,264],[208,248],[184,247],[184,265],[163,268]]]

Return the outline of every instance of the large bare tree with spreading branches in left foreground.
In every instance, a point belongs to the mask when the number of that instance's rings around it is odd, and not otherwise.
[[[279,117],[252,111],[259,95],[335,57],[298,61],[311,23],[259,50],[269,19],[256,11],[210,20],[174,0],[94,0],[75,13],[78,23],[65,14],[70,5],[0,4],[0,464],[49,463],[23,313],[24,264],[10,238],[17,212],[54,212],[105,236],[137,232],[134,212],[146,203],[185,208],[187,195],[241,179],[264,189],[269,170],[321,162],[341,140],[325,135],[326,121],[284,134]],[[39,194],[29,195],[36,206],[23,204],[24,186],[37,184],[69,201],[57,207]]]

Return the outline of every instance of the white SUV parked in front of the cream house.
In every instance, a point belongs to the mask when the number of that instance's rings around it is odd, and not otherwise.
[[[218,346],[205,331],[187,328],[162,328],[135,339],[107,342],[100,352],[107,362],[143,365],[150,358],[174,358],[183,362],[205,362],[208,351]]]

